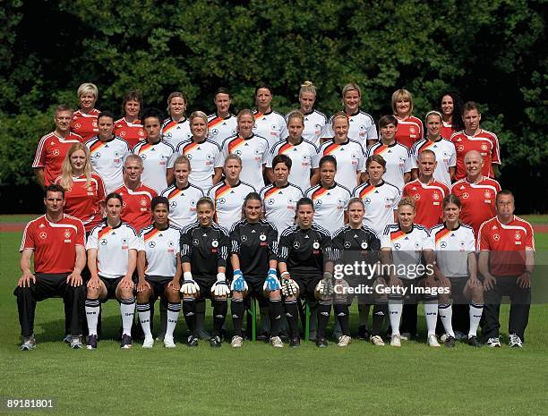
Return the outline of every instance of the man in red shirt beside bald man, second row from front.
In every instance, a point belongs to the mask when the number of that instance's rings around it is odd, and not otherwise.
[[[436,155],[430,149],[425,149],[418,155],[419,175],[415,181],[406,183],[402,191],[402,198],[409,197],[415,200],[415,224],[426,228],[441,223],[443,208],[441,202],[449,195],[449,188],[445,183],[436,181],[433,173],[436,170]]]

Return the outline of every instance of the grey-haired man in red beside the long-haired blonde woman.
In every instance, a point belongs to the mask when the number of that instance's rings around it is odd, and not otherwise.
[[[129,155],[124,161],[124,184],[115,190],[124,200],[122,221],[133,226],[137,233],[152,222],[150,202],[158,196],[150,186],[141,183],[141,174],[141,157]]]

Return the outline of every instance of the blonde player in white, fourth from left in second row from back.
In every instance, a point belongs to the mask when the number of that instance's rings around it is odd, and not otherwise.
[[[186,156],[191,161],[193,170],[189,181],[207,191],[217,184],[223,174],[223,161],[218,144],[206,140],[208,135],[208,117],[201,111],[194,111],[189,117],[193,138],[184,140],[177,146],[177,154]]]

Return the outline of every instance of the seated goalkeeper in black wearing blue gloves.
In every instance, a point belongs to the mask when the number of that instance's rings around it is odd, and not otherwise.
[[[231,261],[234,268],[232,281],[233,347],[242,346],[242,318],[244,318],[244,296],[255,295],[260,307],[269,307],[270,344],[284,346],[280,337],[283,314],[280,285],[276,274],[278,266],[278,231],[269,221],[261,219],[261,195],[251,192],[245,197],[243,216],[230,232]]]

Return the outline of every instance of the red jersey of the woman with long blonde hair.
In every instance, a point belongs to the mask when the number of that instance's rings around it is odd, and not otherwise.
[[[98,174],[91,174],[90,186],[86,187],[86,176],[73,178],[73,186],[64,191],[64,213],[79,218],[86,232],[90,232],[103,219],[100,202],[105,200],[105,183]],[[56,183],[61,183],[61,176]]]

